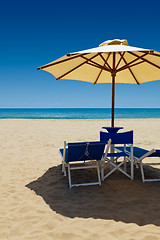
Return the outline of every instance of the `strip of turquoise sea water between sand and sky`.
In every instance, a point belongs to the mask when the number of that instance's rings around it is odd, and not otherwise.
[[[0,119],[110,119],[110,108],[0,109]],[[160,118],[160,108],[116,108],[115,118]]]

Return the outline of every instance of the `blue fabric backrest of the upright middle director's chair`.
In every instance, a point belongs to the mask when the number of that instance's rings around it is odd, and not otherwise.
[[[107,143],[111,139],[111,144],[133,144],[133,131],[123,133],[100,132],[100,141]]]

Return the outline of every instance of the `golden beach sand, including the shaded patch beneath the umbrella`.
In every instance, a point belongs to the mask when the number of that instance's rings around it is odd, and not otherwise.
[[[62,176],[64,140],[99,140],[102,126],[110,121],[0,120],[1,240],[160,239],[160,182],[142,183],[138,171],[134,181],[115,172],[102,186],[70,190]],[[160,149],[159,119],[116,120],[116,126],[133,130],[135,145]],[[159,166],[146,170],[160,177]]]

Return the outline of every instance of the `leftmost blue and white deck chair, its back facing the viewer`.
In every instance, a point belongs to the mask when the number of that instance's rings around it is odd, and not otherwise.
[[[66,176],[66,167],[68,168],[69,187],[87,186],[87,185],[101,185],[99,160],[101,160],[104,153],[105,143],[102,142],[64,142],[64,148],[60,148],[62,156],[62,172]],[[97,169],[97,182],[72,184],[71,170],[76,169]]]

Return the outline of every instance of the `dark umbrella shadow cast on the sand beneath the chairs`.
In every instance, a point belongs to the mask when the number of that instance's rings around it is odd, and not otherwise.
[[[146,167],[146,177],[160,178],[160,170]],[[85,171],[84,174],[82,171]],[[73,171],[72,180],[95,177],[94,170]],[[69,218],[94,218],[136,223],[139,226],[160,226],[160,182],[142,183],[138,170],[131,181],[120,172],[112,174],[102,186],[69,189],[68,178],[61,173],[61,165],[49,168],[37,180],[26,185],[50,208]],[[85,179],[86,180],[86,179]]]

